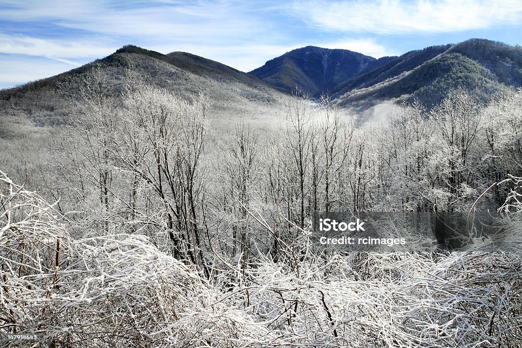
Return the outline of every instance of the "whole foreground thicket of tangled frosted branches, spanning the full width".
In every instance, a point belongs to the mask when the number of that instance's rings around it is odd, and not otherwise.
[[[74,239],[53,205],[0,172],[0,330],[23,346],[477,347],[522,335],[519,221],[502,250],[226,263],[211,280],[143,235]],[[3,343],[7,346],[7,343]],[[32,344],[32,345],[31,345]],[[22,345],[21,345],[22,346]]]

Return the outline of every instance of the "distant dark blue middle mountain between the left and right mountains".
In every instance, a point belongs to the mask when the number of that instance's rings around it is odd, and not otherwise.
[[[290,93],[296,86],[311,97],[331,91],[339,83],[373,70],[393,59],[375,59],[348,50],[307,46],[271,59],[250,71],[268,85]]]

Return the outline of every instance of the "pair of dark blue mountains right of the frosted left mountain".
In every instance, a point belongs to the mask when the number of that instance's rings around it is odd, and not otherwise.
[[[363,110],[386,100],[417,99],[431,107],[455,89],[487,100],[503,85],[522,86],[522,49],[471,39],[374,59],[310,46],[272,59],[251,74],[281,91],[298,86],[312,97],[329,92],[339,105]]]

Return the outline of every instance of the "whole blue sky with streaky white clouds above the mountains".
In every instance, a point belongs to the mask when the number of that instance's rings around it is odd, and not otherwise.
[[[134,44],[242,71],[306,45],[373,57],[470,38],[522,44],[520,0],[0,0],[0,88]]]

